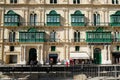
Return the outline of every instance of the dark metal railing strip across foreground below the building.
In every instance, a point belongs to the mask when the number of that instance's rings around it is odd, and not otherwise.
[[[7,66],[0,71],[13,80],[120,80],[120,65]]]

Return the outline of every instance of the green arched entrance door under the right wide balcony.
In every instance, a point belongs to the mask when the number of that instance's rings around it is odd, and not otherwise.
[[[94,49],[94,63],[101,64],[101,49],[100,48]]]

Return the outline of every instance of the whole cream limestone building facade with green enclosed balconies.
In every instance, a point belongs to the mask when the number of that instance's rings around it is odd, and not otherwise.
[[[120,63],[120,0],[0,0],[5,64]]]

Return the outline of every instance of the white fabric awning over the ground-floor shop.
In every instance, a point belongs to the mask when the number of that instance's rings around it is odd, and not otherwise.
[[[90,59],[89,55],[84,52],[70,53],[70,58],[72,58],[72,59]]]

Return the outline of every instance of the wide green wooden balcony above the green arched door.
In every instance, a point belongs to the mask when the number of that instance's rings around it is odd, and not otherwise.
[[[86,32],[86,41],[88,43],[111,43],[111,31],[104,31],[103,28],[98,27],[95,31]]]

